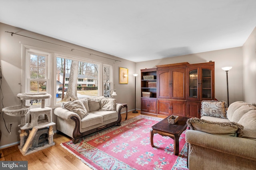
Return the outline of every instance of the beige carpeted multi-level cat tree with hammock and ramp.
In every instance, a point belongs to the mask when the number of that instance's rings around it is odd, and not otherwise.
[[[10,106],[2,109],[10,116],[21,116],[20,122],[20,145],[18,148],[23,155],[54,146],[52,109],[45,107],[45,100],[51,98],[47,93],[19,93],[21,100],[19,106]],[[26,100],[41,100],[41,108],[30,109]],[[26,123],[26,114],[30,113],[30,120]]]

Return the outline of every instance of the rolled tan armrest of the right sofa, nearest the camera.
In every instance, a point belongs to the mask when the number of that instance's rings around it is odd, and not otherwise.
[[[256,160],[256,141],[252,139],[187,130],[186,142],[191,145]]]

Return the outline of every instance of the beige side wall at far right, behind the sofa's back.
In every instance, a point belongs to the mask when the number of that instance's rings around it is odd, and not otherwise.
[[[256,27],[243,45],[244,101],[256,106]]]

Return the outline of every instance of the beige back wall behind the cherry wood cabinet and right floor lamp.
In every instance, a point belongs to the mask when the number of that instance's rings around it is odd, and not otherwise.
[[[188,62],[205,63],[208,61],[215,62],[215,98],[217,100],[227,101],[227,86],[226,86],[226,72],[222,70],[224,66],[232,66],[232,69],[228,72],[228,92],[229,92],[229,104],[235,101],[243,100],[243,70],[242,70],[242,47],[209,51],[205,53],[196,53],[191,55],[184,55],[178,57],[170,57],[165,59],[157,59],[146,62],[136,63],[136,72],[139,73],[140,69],[153,68],[156,65],[171,64]],[[140,94],[140,80],[136,82],[138,88],[136,93]],[[138,96],[138,97],[137,97]],[[140,95],[136,96],[138,105],[140,106]]]

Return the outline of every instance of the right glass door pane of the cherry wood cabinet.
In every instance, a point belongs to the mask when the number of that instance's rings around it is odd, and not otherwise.
[[[212,70],[202,69],[202,98],[212,98]]]

